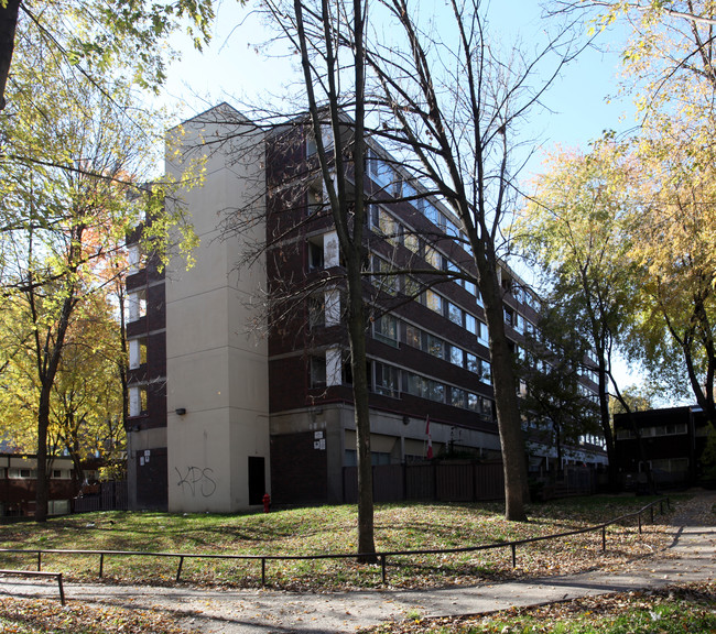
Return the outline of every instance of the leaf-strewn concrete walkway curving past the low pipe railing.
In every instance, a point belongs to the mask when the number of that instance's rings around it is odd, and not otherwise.
[[[477,614],[587,597],[657,588],[716,576],[716,492],[699,492],[677,510],[673,544],[618,570],[527,579],[471,588],[368,590],[300,594],[272,590],[205,590],[67,584],[68,599],[95,604],[162,610],[203,633],[304,634],[355,632],[409,613],[424,616]],[[0,591],[3,591],[0,586]],[[22,582],[12,594],[56,595],[56,587]]]

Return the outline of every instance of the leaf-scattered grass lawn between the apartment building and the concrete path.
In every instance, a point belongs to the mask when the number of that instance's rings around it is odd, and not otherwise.
[[[581,528],[634,511],[651,499],[574,498],[529,507],[530,521],[506,522],[501,504],[387,504],[376,507],[379,550],[413,550],[477,546]],[[647,514],[646,518],[649,517]],[[671,542],[668,515],[643,534],[636,518],[601,535],[588,533],[518,548],[512,569],[509,548],[459,555],[420,555],[388,560],[392,587],[423,588],[476,583],[525,575],[566,573],[611,566],[653,553]],[[43,549],[140,550],[232,555],[312,555],[356,551],[355,506],[293,509],[270,514],[171,515],[166,513],[94,513],[50,520],[45,525],[0,526],[0,547]],[[0,568],[34,569],[32,555],[0,554]],[[173,583],[175,558],[105,558],[104,576],[119,583]],[[69,581],[97,579],[98,556],[43,555],[43,569],[61,571]],[[257,587],[258,561],[184,561],[182,581],[192,584]],[[379,566],[354,559],[268,561],[273,588],[335,590],[380,583]]]

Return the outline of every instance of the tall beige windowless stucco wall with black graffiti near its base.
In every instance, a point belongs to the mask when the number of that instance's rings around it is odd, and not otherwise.
[[[239,128],[249,130],[238,119],[189,121],[183,142]],[[250,267],[240,262],[263,225],[229,238],[219,228],[227,214],[263,199],[263,145],[252,134],[207,146],[205,154],[203,185],[184,195],[199,238],[196,262],[187,271],[177,259],[166,274],[169,510],[227,513],[249,506],[249,456],[264,458],[267,487],[270,474],[268,349],[249,327],[261,315],[247,305],[265,287],[265,273],[261,261]],[[262,217],[263,208],[251,212]],[[180,408],[186,413],[176,414]]]

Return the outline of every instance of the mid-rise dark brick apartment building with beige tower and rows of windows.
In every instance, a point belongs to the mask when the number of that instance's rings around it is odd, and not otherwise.
[[[345,282],[315,143],[299,124],[263,135],[226,105],[182,135],[206,157],[204,183],[185,197],[195,265],[160,274],[150,262],[127,283],[130,505],[230,512],[264,492],[341,502],[356,463]],[[459,220],[377,144],[366,172],[350,188],[369,200],[373,464],[422,461],[428,446],[499,458],[487,327]],[[507,266],[501,276],[519,353],[539,299]],[[596,389],[588,375],[584,385]],[[582,450],[583,461],[598,453]]]

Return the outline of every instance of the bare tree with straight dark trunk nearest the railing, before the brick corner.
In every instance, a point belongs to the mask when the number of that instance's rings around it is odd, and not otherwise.
[[[326,206],[333,216],[346,269],[346,316],[350,346],[358,458],[358,553],[376,559],[369,384],[366,374],[367,315],[364,265],[367,250],[365,176],[365,29],[367,3],[318,0],[267,2],[272,21],[301,59],[310,128],[315,140]],[[348,116],[348,117],[347,117]],[[349,119],[348,119],[349,118]],[[355,183],[355,186],[351,186]]]

